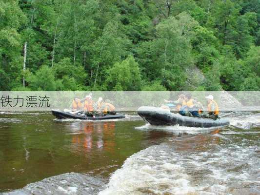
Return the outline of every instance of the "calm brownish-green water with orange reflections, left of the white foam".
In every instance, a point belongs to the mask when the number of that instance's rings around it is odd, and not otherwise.
[[[109,178],[123,161],[163,135],[149,140],[135,131],[143,121],[55,120],[50,113],[0,115],[0,192],[68,172]]]

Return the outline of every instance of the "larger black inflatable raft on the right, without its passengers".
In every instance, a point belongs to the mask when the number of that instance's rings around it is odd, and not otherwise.
[[[227,119],[209,119],[199,117],[184,117],[162,108],[142,106],[138,114],[152,125],[177,125],[186,127],[218,127],[229,124]]]

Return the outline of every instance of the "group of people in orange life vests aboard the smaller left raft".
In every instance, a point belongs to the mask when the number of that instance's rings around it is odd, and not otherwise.
[[[85,98],[74,98],[72,101],[71,114],[81,114],[87,117],[116,115],[115,106],[104,101],[102,97],[99,97],[98,101],[92,100],[92,94],[87,95]]]

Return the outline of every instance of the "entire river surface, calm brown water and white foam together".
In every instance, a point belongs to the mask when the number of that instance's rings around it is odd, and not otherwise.
[[[0,113],[0,193],[260,195],[260,113],[219,129]],[[19,189],[19,190],[17,190]]]

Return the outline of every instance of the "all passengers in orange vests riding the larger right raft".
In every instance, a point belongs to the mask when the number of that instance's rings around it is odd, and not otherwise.
[[[205,98],[207,100],[207,112],[203,111],[203,105],[198,101],[198,98],[192,98],[191,94],[180,94],[175,101],[164,99],[164,102],[168,104],[161,106],[161,108],[170,110],[175,107],[175,110],[181,116],[186,117],[219,118],[219,106],[214,97],[209,95]]]

